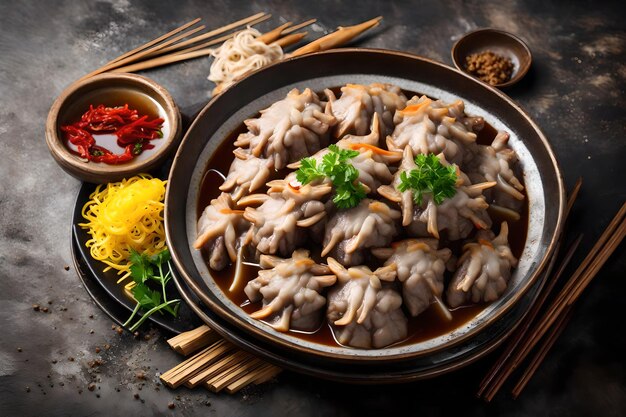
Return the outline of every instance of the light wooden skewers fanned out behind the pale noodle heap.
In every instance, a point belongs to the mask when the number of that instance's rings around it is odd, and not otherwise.
[[[252,27],[270,17],[270,14],[261,12],[204,33],[201,32],[204,31],[205,26],[198,26],[201,19],[197,18],[122,54],[81,79],[104,72],[137,72],[211,55],[215,50],[214,48],[242,32],[242,27]],[[382,17],[379,16],[354,26],[339,27],[336,31],[322,36],[285,56],[294,57],[339,47],[366,30],[378,26],[381,19]],[[310,19],[297,25],[287,22],[263,33],[258,40],[268,45],[278,45],[284,49],[304,39],[307,36],[307,32],[297,31],[316,21],[316,19]]]

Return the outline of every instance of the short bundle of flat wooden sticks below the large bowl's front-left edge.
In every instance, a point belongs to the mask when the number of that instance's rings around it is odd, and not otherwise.
[[[161,375],[170,388],[203,386],[213,392],[235,393],[250,384],[262,384],[281,369],[237,349],[206,325],[167,341],[183,355],[198,353]]]

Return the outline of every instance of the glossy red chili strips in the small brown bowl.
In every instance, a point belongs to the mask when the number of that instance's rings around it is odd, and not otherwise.
[[[139,116],[139,112],[123,107],[105,107],[103,104],[89,106],[81,119],[67,126],[62,126],[65,138],[74,144],[78,154],[88,161],[117,165],[128,162],[146,149],[154,148],[149,142],[162,137],[161,127],[164,120],[148,120],[148,116]],[[93,134],[114,133],[117,144],[124,147],[124,153],[117,155],[102,146],[96,145]]]

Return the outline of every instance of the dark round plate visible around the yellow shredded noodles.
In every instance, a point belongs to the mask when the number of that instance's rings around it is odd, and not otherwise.
[[[84,221],[81,214],[82,208],[95,189],[95,185],[83,183],[74,204],[72,219],[74,266],[87,293],[93,298],[94,302],[115,322],[121,325],[130,317],[130,313],[135,308],[136,303],[126,295],[124,287],[116,283],[119,279],[116,271],[103,272],[106,265],[91,257],[89,249],[85,246],[89,235],[85,229],[78,226],[79,223]],[[168,288],[168,297],[170,299],[179,298],[171,285]],[[148,320],[176,334],[191,330],[200,324],[193,311],[184,302],[181,303],[178,310],[178,317],[174,318],[169,314],[160,315],[157,313],[151,315]]]

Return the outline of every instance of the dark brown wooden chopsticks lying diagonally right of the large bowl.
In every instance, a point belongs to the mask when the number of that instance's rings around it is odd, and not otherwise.
[[[579,179],[568,199],[566,218],[578,195],[580,186],[581,180]],[[477,393],[479,397],[483,397],[486,401],[491,401],[511,374],[522,365],[541,342],[539,349],[512,390],[513,397],[519,397],[567,325],[572,315],[572,305],[578,300],[625,236],[626,202],[562,289],[550,303],[546,303],[549,295],[554,290],[556,282],[563,274],[580,244],[582,236],[579,236],[574,241],[559,268],[557,268],[556,273],[550,277],[547,287],[543,289],[528,315],[511,337],[506,349],[482,380]],[[547,307],[544,314],[537,319],[545,304],[547,304]]]

